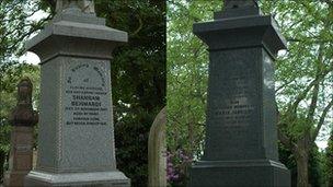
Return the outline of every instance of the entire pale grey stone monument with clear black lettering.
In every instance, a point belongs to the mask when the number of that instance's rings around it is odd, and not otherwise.
[[[93,1],[58,0],[26,44],[41,58],[36,168],[26,186],[130,186],[116,168],[110,60],[127,33],[105,26]]]

